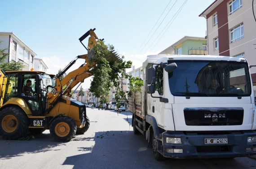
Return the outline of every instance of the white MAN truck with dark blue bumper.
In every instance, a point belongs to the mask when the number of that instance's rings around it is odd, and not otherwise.
[[[134,134],[156,160],[256,155],[250,67],[229,56],[147,56],[144,86],[128,97]]]

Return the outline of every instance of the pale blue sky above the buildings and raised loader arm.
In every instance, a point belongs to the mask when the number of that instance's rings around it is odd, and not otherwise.
[[[214,0],[0,0],[0,32],[13,32],[57,74],[87,53],[79,38],[96,28],[135,69],[184,36],[205,37],[199,17]],[[84,39],[88,43],[88,38]],[[83,60],[76,61],[71,70]],[[127,69],[127,72],[131,69]],[[90,87],[90,79],[82,87]]]

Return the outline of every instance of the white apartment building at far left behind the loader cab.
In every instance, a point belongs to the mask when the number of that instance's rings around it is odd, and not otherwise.
[[[31,70],[34,68],[34,58],[37,55],[31,48],[29,48],[21,39],[13,32],[0,32],[1,49],[7,48],[6,53],[9,57],[5,62],[16,61],[21,62],[25,67],[22,70]]]

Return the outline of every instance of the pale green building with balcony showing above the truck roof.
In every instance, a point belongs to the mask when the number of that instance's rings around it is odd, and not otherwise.
[[[207,39],[184,36],[159,54],[172,55],[207,55]]]

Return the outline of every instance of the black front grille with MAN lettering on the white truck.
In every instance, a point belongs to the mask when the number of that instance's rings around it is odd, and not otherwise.
[[[243,124],[243,108],[185,108],[187,126],[233,126]]]

